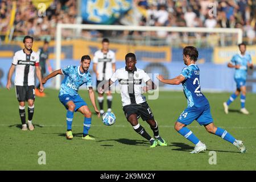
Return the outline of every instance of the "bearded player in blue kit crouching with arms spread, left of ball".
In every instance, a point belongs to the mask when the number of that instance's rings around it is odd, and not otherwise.
[[[86,84],[89,92],[90,101],[96,111],[98,118],[100,117],[100,111],[97,109],[95,102],[95,95],[92,87],[92,77],[88,72],[90,66],[90,56],[82,56],[79,66],[69,65],[66,68],[58,69],[48,76],[43,78],[43,84],[49,78],[55,77],[56,75],[65,75],[64,80],[61,82],[61,88],[59,93],[60,102],[66,107],[67,111],[67,139],[73,139],[72,134],[72,121],[74,111],[79,111],[84,115],[84,131],[82,133],[82,139],[92,140],[94,138],[88,135],[90,125],[92,122],[92,113],[89,110],[86,102],[78,94],[79,87]]]

